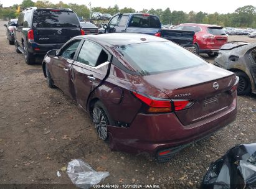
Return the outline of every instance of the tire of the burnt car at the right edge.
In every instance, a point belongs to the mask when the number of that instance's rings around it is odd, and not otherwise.
[[[239,76],[239,85],[237,86],[237,94],[245,95],[251,91],[250,79],[243,71],[235,72],[235,75]]]

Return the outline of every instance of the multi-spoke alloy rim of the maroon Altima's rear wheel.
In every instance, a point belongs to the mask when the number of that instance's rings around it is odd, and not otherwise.
[[[95,129],[97,131],[98,136],[100,139],[105,141],[108,137],[108,130],[107,130],[107,118],[103,113],[102,109],[95,107],[92,113],[93,122],[95,124]]]

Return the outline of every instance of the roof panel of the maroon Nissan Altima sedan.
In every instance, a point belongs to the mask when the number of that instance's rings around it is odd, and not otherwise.
[[[111,34],[102,34],[102,35],[80,35],[77,38],[84,38],[93,40],[103,47],[116,47],[121,45],[130,45],[130,44],[141,44],[147,42],[169,42],[169,40],[163,39],[161,37],[155,37],[153,35],[146,34],[120,34],[120,33],[111,33]]]

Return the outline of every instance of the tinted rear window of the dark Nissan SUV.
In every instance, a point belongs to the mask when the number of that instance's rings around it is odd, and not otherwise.
[[[37,10],[33,16],[34,27],[79,27],[74,12],[59,10]]]

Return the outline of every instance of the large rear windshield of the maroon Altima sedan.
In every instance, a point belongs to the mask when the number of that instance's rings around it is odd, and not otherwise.
[[[206,62],[172,42],[122,45],[118,51],[141,75],[153,75],[204,65]]]

